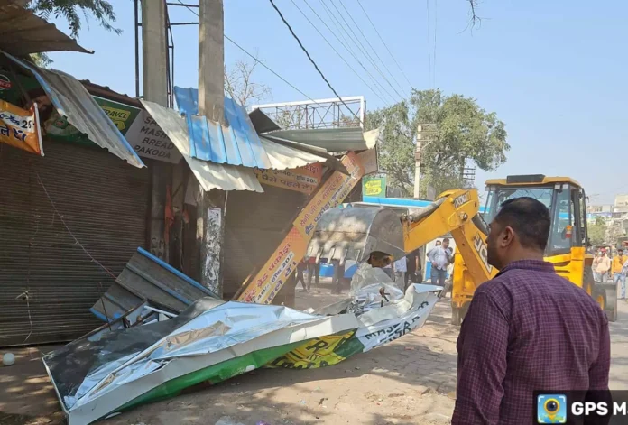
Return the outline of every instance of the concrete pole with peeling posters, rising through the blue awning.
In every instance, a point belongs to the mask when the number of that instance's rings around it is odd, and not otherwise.
[[[223,0],[199,0],[199,115],[225,123],[225,23]],[[197,244],[200,283],[223,296],[226,192],[199,190]]]

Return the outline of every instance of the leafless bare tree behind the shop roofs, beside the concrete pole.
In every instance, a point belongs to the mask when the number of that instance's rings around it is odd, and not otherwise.
[[[258,60],[247,62],[238,60],[231,69],[225,67],[225,91],[235,102],[250,106],[252,101],[260,101],[271,95],[271,88],[253,80]]]

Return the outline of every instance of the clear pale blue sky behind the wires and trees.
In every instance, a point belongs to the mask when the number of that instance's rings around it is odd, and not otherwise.
[[[325,30],[337,50],[344,51],[304,0],[294,1]],[[324,1],[331,7],[331,0]],[[360,1],[413,87],[432,87],[428,25],[431,49],[436,27],[436,87],[446,93],[475,97],[506,123],[512,146],[508,162],[496,171],[477,171],[478,188],[483,189],[487,178],[543,173],[579,180],[592,203],[612,202],[615,193],[628,192],[628,180],[623,174],[628,163],[627,2],[483,0],[478,14],[484,19],[472,32],[466,29],[465,0],[429,0],[429,19],[425,0]],[[321,0],[308,2],[321,16],[327,16]],[[341,7],[340,0],[334,2]],[[402,95],[408,93],[410,86],[390,60],[357,0],[342,2],[405,89]],[[119,36],[106,32],[92,20],[79,42],[96,53],[54,53],[53,68],[134,95],[133,2],[111,3],[118,16],[117,26],[124,32]],[[275,3],[341,96],[364,95],[368,109],[383,106],[382,100],[346,67],[291,0]],[[171,7],[171,22],[195,20],[196,16],[188,10]],[[66,29],[62,23],[58,25]],[[197,87],[197,27],[174,27],[173,31],[175,83]],[[269,1],[225,0],[225,32],[246,50],[257,52],[260,60],[309,97],[333,97]],[[226,42],[227,66],[244,58],[243,53]],[[358,72],[364,72],[348,54],[346,60]],[[361,60],[376,75],[368,62]],[[272,88],[268,102],[303,100],[300,93],[265,69],[257,70],[255,79]],[[396,87],[392,79],[391,82]],[[388,91],[399,98],[392,88],[388,87]]]

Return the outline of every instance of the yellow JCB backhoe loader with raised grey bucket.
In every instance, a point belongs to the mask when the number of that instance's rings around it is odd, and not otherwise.
[[[493,277],[494,269],[486,258],[486,223],[507,199],[539,199],[552,217],[546,261],[556,273],[583,288],[616,319],[616,291],[613,284],[595,282],[586,254],[586,195],[577,181],[543,175],[509,176],[486,181],[487,199],[484,217],[479,211],[476,189],[456,189],[442,193],[425,208],[377,207],[356,205],[333,208],[320,217],[308,246],[308,255],[317,262],[325,258],[345,263],[365,261],[369,254],[382,252],[398,259],[429,241],[450,234],[456,241],[452,322],[459,325],[466,314],[476,287]]]

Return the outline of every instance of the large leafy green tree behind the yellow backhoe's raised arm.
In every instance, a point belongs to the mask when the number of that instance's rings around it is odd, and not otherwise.
[[[368,128],[383,127],[379,146],[381,171],[393,186],[411,194],[417,128],[422,125],[421,179],[437,193],[463,187],[466,160],[485,171],[506,161],[510,145],[505,125],[475,99],[445,96],[439,89],[412,90],[409,100],[377,109],[367,116]],[[425,190],[422,191],[425,194]]]

